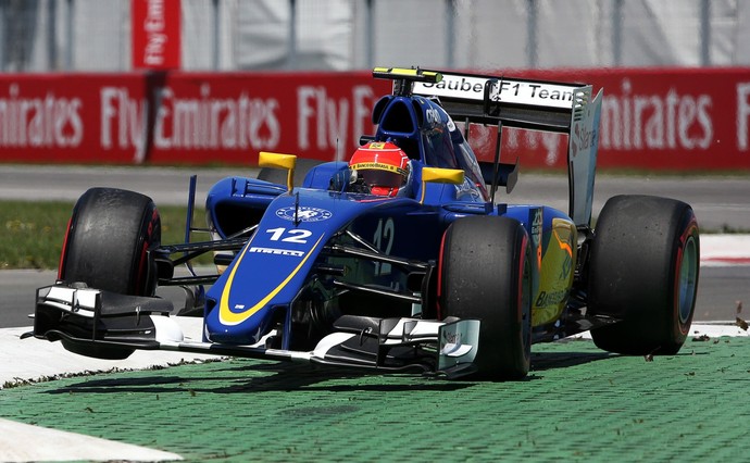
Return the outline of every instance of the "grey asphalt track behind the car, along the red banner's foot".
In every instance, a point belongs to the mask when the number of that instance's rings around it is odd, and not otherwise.
[[[0,165],[0,199],[75,201],[95,186],[132,189],[149,195],[157,205],[185,204],[188,178],[198,175],[197,201],[216,180],[242,175],[254,177],[247,168],[173,167],[67,167]],[[654,195],[683,200],[692,205],[703,230],[750,232],[750,175],[743,176],[597,176],[593,215],[605,200],[615,195]],[[567,211],[567,178],[564,175],[524,174],[508,196],[498,200],[510,203],[547,204]]]

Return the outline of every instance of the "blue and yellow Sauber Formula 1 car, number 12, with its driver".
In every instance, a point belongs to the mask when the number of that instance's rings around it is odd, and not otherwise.
[[[210,190],[211,240],[190,240],[195,177],[178,245],[161,242],[148,197],[88,190],[59,280],[37,291],[33,335],[103,359],[166,349],[488,379],[522,378],[533,343],[587,330],[611,352],[680,349],[698,286],[696,217],[677,200],[620,196],[591,226],[601,92],[373,74],[393,92],[351,160],[261,153],[259,178]],[[470,147],[475,124],[497,127],[493,162]],[[567,134],[567,212],[496,202],[517,179],[517,162],[500,157],[503,127]],[[215,273],[192,272],[202,253]],[[183,264],[191,273],[176,276]],[[201,341],[186,340],[173,303],[154,296],[170,285],[188,290],[179,314],[202,317]]]

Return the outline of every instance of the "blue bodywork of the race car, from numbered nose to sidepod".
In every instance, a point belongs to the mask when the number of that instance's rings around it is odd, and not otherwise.
[[[395,142],[412,160],[405,197],[348,191],[342,180],[349,178],[346,162],[313,167],[290,191],[282,184],[242,177],[226,178],[211,189],[207,210],[221,238],[240,228],[254,228],[207,293],[205,341],[253,345],[276,329],[283,334],[279,347],[292,349],[305,341],[314,343],[315,336],[305,338],[317,330],[329,331],[342,313],[422,315],[423,310],[429,311],[422,306],[425,297],[416,300],[412,295],[423,292],[424,267],[438,260],[448,226],[466,215],[505,215],[524,225],[538,254],[533,280],[540,309],[550,312],[548,292],[570,289],[576,247],[573,221],[549,207],[496,205],[472,148],[437,99],[386,96],[375,105],[373,122],[377,132],[366,140]],[[423,184],[425,166],[462,170],[464,182]],[[424,196],[422,188],[426,189]],[[559,227],[561,223],[568,230],[564,245],[573,251],[558,260],[567,267],[540,278],[553,224]],[[353,241],[365,242],[373,254],[423,264],[397,265],[337,252],[338,246]],[[550,251],[554,252],[561,251]],[[413,275],[421,275],[417,287],[410,280]],[[378,298],[377,290],[388,299]],[[536,326],[553,323],[567,298],[558,297],[553,302],[551,314],[539,311]],[[295,323],[298,320],[305,321],[300,328]]]

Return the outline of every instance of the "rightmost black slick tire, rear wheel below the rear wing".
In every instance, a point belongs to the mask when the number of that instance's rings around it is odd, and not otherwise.
[[[610,352],[675,354],[690,329],[700,242],[677,200],[617,196],[604,204],[590,250],[588,310],[622,322],[591,330]]]

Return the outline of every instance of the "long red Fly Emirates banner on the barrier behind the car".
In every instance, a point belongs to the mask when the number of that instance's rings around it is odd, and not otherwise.
[[[498,72],[604,89],[600,167],[750,170],[750,71]],[[259,151],[348,159],[390,92],[370,73],[0,76],[0,162],[253,164]],[[457,121],[459,122],[459,121]],[[490,160],[495,132],[472,145]],[[504,129],[502,157],[565,165],[564,135]]]

